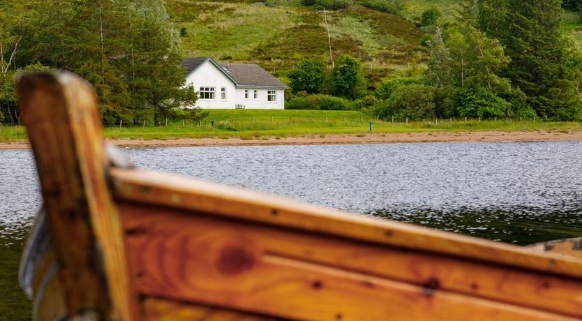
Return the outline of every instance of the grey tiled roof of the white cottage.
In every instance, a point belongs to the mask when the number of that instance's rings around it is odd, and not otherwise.
[[[186,68],[188,73],[191,73],[207,60],[210,60],[218,68],[221,68],[223,73],[234,80],[237,87],[288,88],[277,77],[255,64],[218,64],[211,57],[192,57],[182,60],[181,66]]]

